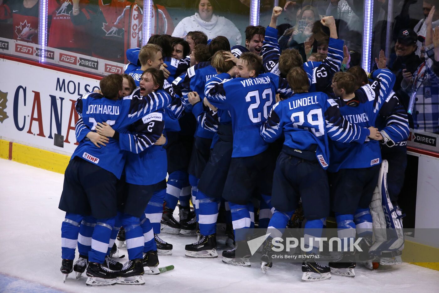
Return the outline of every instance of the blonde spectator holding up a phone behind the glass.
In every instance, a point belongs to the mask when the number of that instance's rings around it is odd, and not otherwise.
[[[314,22],[320,21],[320,15],[311,5],[307,5],[300,10],[296,25],[292,34],[292,39],[297,44],[302,44],[313,34]]]

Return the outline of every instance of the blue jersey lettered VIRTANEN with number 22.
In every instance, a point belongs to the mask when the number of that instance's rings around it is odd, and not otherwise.
[[[249,157],[268,148],[259,134],[275,104],[276,93],[287,97],[291,89],[287,81],[273,73],[258,77],[230,79],[228,73],[212,77],[206,84],[205,96],[218,109],[228,110],[233,127],[232,157]]]

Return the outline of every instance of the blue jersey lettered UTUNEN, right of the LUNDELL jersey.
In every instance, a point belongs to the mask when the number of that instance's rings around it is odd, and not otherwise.
[[[347,106],[341,101],[340,107],[340,113],[346,120],[366,128],[375,126],[378,113],[395,84],[395,75],[388,69],[375,70],[371,74],[374,82],[355,91],[358,106]],[[348,168],[368,168],[381,164],[380,145],[375,140],[363,145],[333,142],[330,144],[330,150],[330,172]]]

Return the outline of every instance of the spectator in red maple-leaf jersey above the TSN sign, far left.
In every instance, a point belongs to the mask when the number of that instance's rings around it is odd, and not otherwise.
[[[14,40],[38,44],[38,0],[8,1],[12,12],[12,31]]]

